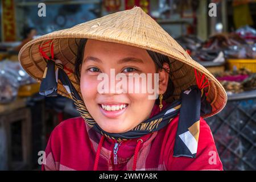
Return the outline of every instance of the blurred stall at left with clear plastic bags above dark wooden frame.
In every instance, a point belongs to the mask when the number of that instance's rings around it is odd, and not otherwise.
[[[0,169],[38,167],[53,127],[79,114],[64,97],[45,98],[17,61],[0,61]]]

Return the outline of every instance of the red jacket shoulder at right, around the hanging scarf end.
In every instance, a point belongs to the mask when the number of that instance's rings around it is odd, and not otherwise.
[[[218,156],[212,131],[205,119],[202,117],[200,117],[200,130],[196,158],[175,158],[173,156],[178,122],[179,115],[172,119],[163,138],[162,150],[168,170],[222,170],[222,163]],[[209,161],[212,160],[212,154],[214,154],[214,162],[213,164],[210,164]]]

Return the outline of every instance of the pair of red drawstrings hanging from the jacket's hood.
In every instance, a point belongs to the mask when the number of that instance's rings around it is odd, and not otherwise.
[[[102,136],[101,136],[100,143],[98,143],[98,148],[97,148],[96,157],[95,157],[95,161],[94,161],[93,171],[97,171],[97,168],[98,168],[98,160],[100,159],[101,147],[102,147],[102,144],[103,144],[103,142],[104,142],[104,139],[105,139],[105,136],[102,135]],[[137,140],[137,144],[136,144],[135,152],[134,152],[134,158],[133,158],[133,171],[136,171],[136,165],[137,165],[137,158],[138,158],[138,153],[139,153],[139,147],[141,146],[142,142],[143,142],[142,139],[138,139],[138,140]]]

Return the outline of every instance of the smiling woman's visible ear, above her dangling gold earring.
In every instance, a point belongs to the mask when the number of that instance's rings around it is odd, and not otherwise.
[[[167,90],[170,67],[167,63],[163,64],[163,69],[159,69],[159,94],[164,94]]]

